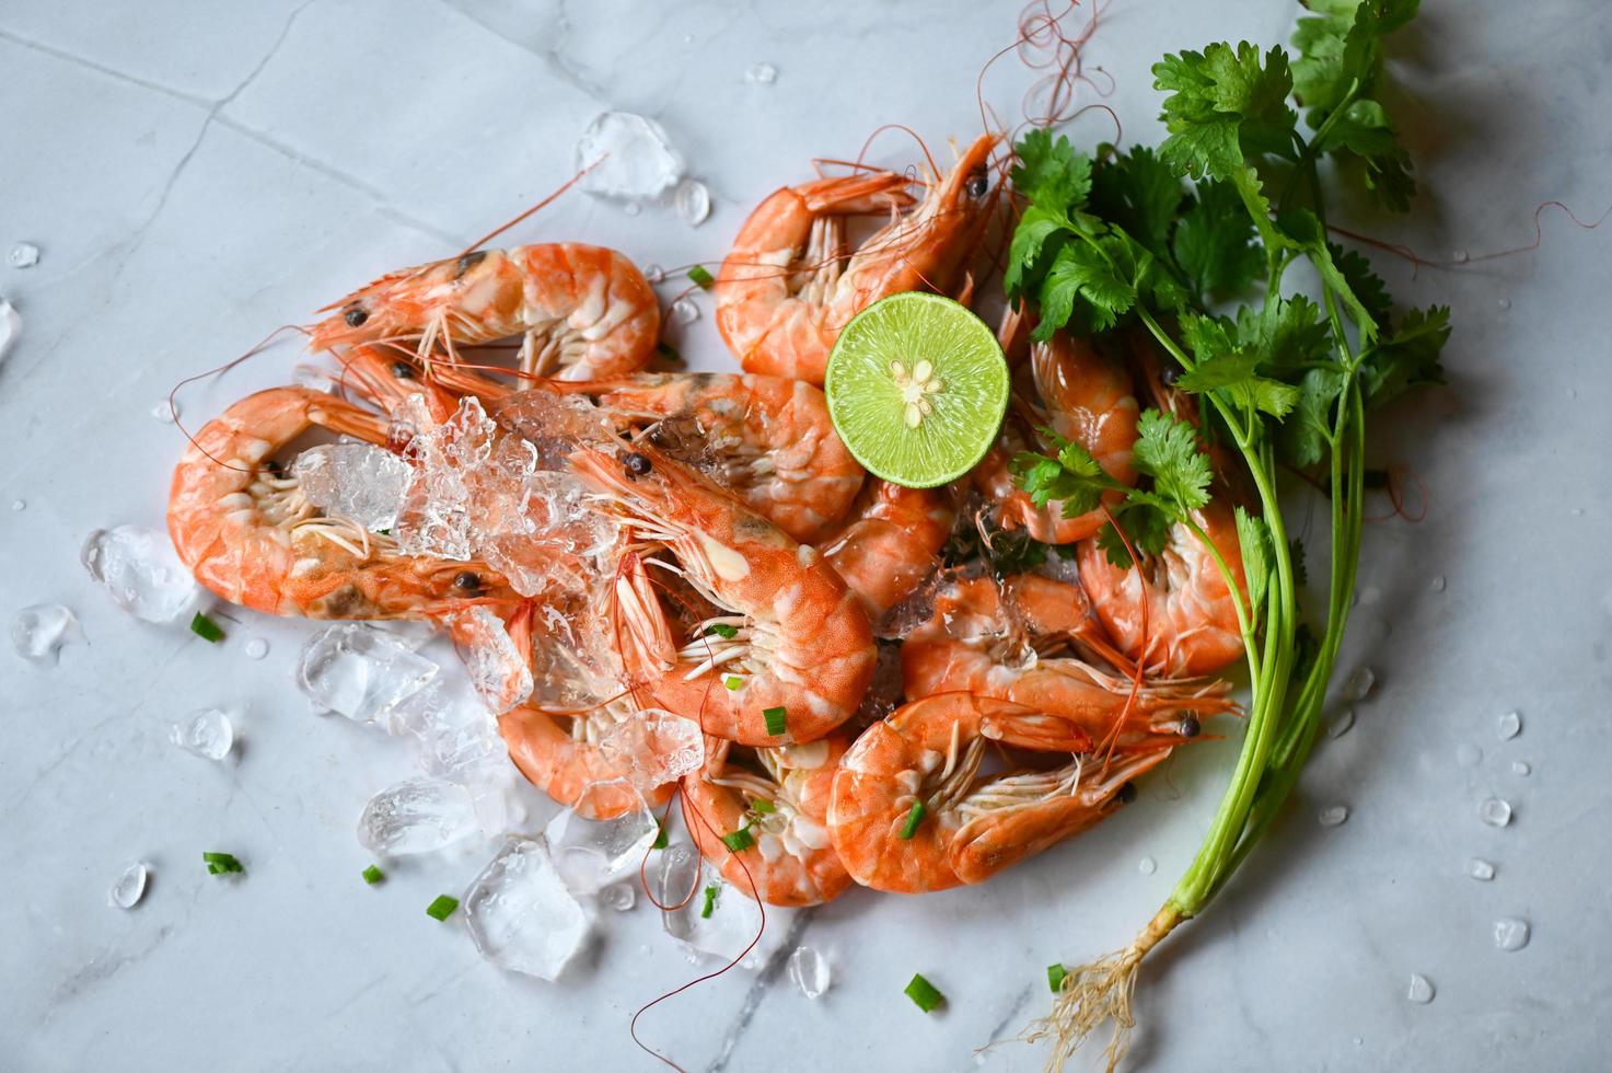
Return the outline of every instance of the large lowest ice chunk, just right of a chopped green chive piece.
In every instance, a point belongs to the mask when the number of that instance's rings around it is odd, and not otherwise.
[[[588,916],[542,839],[506,837],[464,892],[464,923],[493,965],[555,979],[588,937]]]

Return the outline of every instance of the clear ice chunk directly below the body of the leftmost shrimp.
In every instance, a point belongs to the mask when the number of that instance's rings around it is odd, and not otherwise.
[[[387,631],[342,623],[308,641],[297,683],[316,710],[374,723],[435,678],[437,670]]]

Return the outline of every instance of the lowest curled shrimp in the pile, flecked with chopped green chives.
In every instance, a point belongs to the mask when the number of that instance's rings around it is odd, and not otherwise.
[[[751,750],[706,737],[704,766],[683,776],[683,820],[724,879],[767,905],[821,905],[851,886],[829,839],[829,795],[848,744],[830,734]],[[735,852],[722,836],[740,829],[751,845]]]

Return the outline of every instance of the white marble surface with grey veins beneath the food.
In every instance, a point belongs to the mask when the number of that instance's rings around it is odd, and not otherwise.
[[[1433,194],[1396,234],[1448,257],[1527,244],[1546,198],[1599,213],[1612,26],[1567,0],[1428,6],[1396,42],[1398,115]],[[44,252],[0,266],[24,318],[0,366],[0,507],[26,502],[0,510],[0,592],[8,615],[66,603],[87,636],[55,668],[0,653],[0,1068],[656,1068],[629,1017],[695,970],[643,899],[559,984],[484,963],[461,923],[421,910],[485,847],[358,881],[358,808],[411,762],[306,710],[289,673],[308,628],[242,615],[214,649],[142,624],[85,578],[79,544],[161,524],[182,440],[150,411],[176,381],[511,216],[569,176],[606,105],[659,118],[711,186],[711,219],[692,231],[571,195],[509,240],[717,258],[746,207],[814,155],[854,157],[880,123],[935,147],[975,132],[975,73],[1016,8],[0,0],[0,247]],[[1291,15],[1122,0],[1088,56],[1114,76],[1127,136],[1151,140],[1148,63],[1280,40]],[[746,84],[756,61],[777,84]],[[987,97],[1017,115],[1028,81],[1004,60]],[[1111,136],[1096,119],[1077,132]],[[874,158],[916,152],[887,136]],[[1323,742],[1269,845],[1149,963],[1138,1067],[1607,1068],[1609,242],[1548,215],[1535,253],[1415,279],[1380,258],[1404,299],[1449,302],[1457,324],[1449,389],[1407,402],[1377,450],[1427,491],[1420,524],[1365,539],[1344,666],[1373,666],[1380,687]],[[701,365],[725,363],[709,315],[683,336]],[[190,389],[185,415],[284,382],[292,363],[279,350]],[[250,637],[268,658],[245,657]],[[172,718],[219,702],[248,712],[237,763],[166,742]],[[1510,708],[1523,731],[1502,742]],[[1462,745],[1481,750],[1475,766]],[[780,965],[733,971],[650,1012],[642,1036],[693,1070],[1038,1068],[1020,1044],[974,1049],[1046,1008],[1048,962],[1148,918],[1232,749],[1191,750],[1136,807],[985,887],[856,891],[796,920],[833,962],[817,1002]],[[1515,805],[1506,829],[1478,820],[1491,794]],[[1349,820],[1322,828],[1335,802]],[[203,849],[237,852],[248,875],[206,876]],[[1469,857],[1493,860],[1494,881],[1467,878]],[[132,858],[153,879],[123,913],[105,892]],[[1499,916],[1531,921],[1527,949],[1494,949]],[[914,970],[948,994],[943,1013],[901,996]],[[1435,983],[1430,1005],[1406,1000],[1412,971]]]

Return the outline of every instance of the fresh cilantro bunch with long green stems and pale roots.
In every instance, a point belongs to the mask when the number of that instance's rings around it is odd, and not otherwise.
[[[1067,987],[1061,967],[1048,970],[1061,1046],[1078,1042],[1069,1025],[1090,1010],[1122,1008],[1116,996],[1133,986],[1141,957],[1204,910],[1278,815],[1315,742],[1349,616],[1367,415],[1443,382],[1449,310],[1394,315],[1367,258],[1327,240],[1333,186],[1354,184],[1390,210],[1407,208],[1415,190],[1380,90],[1381,39],[1415,15],[1417,0],[1307,6],[1314,15],[1299,19],[1293,56],[1248,42],[1164,56],[1153,74],[1169,137],[1156,152],[1099,147],[1088,157],[1048,131],[1016,147],[1012,181],[1028,205],[1009,245],[1009,299],[1038,307],[1040,339],[1062,328],[1146,332],[1178,366],[1175,387],[1196,395],[1203,428],[1143,413],[1143,479],[1133,489],[1116,487],[1090,453],[1049,432],[1046,453],[1016,457],[1012,473],[1033,502],[1061,502],[1072,515],[1116,500],[1119,528],[1104,526],[1098,542],[1119,565],[1132,565],[1127,541],[1140,555],[1162,550],[1172,531],[1201,541],[1233,592],[1253,692],[1209,833],[1148,931],[1104,962],[1107,971]],[[1328,157],[1336,168],[1323,177],[1319,161]],[[1294,266],[1319,300],[1283,287]],[[1217,494],[1206,440],[1227,449],[1253,491],[1235,510],[1246,599],[1198,521]],[[1327,497],[1332,562],[1315,633],[1299,621],[1302,549],[1277,499],[1285,470]]]

